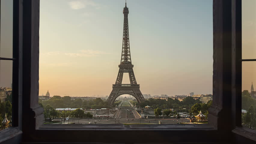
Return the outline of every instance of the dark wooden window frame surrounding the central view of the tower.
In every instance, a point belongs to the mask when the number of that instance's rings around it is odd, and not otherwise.
[[[23,143],[255,142],[241,126],[241,0],[213,0],[213,104],[208,125],[43,125],[39,89],[40,0],[14,0],[19,46],[16,130]],[[11,130],[11,129],[10,129]],[[248,134],[248,135],[245,135]],[[185,136],[185,138],[184,138]],[[1,140],[0,136],[0,140]],[[17,136],[14,136],[17,137]],[[11,138],[14,138],[11,137]],[[129,137],[129,139],[127,139]],[[10,138],[10,139],[11,139]],[[1,142],[1,141],[0,141]]]

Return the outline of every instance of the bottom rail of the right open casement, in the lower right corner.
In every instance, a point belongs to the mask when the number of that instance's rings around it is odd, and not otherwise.
[[[236,127],[232,132],[256,142],[256,130],[245,127]]]

